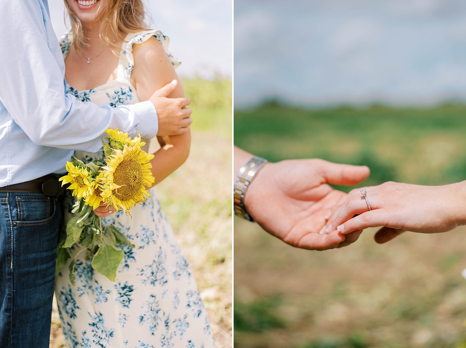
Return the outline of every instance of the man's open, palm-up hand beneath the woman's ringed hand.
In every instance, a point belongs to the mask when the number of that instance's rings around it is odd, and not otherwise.
[[[267,163],[246,191],[246,210],[264,230],[292,246],[310,250],[345,246],[362,231],[346,236],[338,231],[319,233],[331,209],[346,195],[327,183],[358,184],[369,172],[366,166],[321,159]]]

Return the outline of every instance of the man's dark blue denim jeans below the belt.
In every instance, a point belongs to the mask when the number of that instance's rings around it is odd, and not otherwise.
[[[48,348],[61,198],[0,192],[0,347]]]

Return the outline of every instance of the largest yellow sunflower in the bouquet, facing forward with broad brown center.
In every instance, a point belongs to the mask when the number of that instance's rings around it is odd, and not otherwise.
[[[139,138],[140,140],[140,138]],[[107,205],[114,205],[117,210],[128,213],[137,203],[146,201],[144,195],[151,197],[145,187],[150,187],[155,179],[152,176],[154,155],[141,150],[137,145],[124,146],[123,150],[114,150],[106,157],[107,166],[102,167],[102,198]]]

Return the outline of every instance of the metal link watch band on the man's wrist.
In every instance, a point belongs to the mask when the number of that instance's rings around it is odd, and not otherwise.
[[[244,195],[247,186],[253,181],[260,167],[265,163],[267,163],[266,159],[254,157],[244,167],[241,167],[233,188],[233,209],[236,216],[254,222],[254,219],[247,213],[244,207]]]

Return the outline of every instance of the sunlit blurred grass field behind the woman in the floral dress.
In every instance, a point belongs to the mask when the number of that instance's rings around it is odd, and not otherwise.
[[[183,85],[192,99],[191,154],[158,185],[158,194],[198,282],[217,348],[230,348],[231,82],[195,79]],[[157,347],[158,342],[151,343]],[[50,348],[59,347],[64,347],[63,335],[54,305]]]

